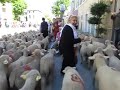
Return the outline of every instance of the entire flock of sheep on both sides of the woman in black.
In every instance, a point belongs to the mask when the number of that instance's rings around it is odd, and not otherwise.
[[[56,49],[48,49],[50,39],[32,30],[0,38],[0,90],[53,90]],[[92,36],[85,39],[78,44],[81,63],[93,67],[96,89],[120,90],[118,49],[109,40],[103,44]],[[63,72],[61,90],[85,90],[75,68],[68,66]]]

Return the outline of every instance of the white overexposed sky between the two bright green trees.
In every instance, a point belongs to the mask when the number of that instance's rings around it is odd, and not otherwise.
[[[37,9],[40,10],[43,14],[49,15],[52,17],[51,6],[56,0],[25,0],[28,9]]]

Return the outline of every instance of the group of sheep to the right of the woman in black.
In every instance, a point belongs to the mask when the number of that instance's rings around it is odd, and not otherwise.
[[[85,37],[87,41],[80,44],[81,63],[92,67],[95,90],[120,90],[119,50],[110,40],[101,43],[94,37]]]

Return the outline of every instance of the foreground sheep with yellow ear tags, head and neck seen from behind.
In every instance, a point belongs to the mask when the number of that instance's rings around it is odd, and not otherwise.
[[[25,81],[24,86],[19,90],[35,90],[35,87],[37,85],[37,81],[41,79],[41,75],[37,70],[30,70],[27,73],[23,72],[23,74],[20,76]]]

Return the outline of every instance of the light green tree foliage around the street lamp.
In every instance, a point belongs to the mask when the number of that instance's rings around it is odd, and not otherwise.
[[[57,0],[54,5],[52,6],[52,13],[57,17],[60,17],[61,12],[60,12],[60,5],[64,4],[65,8],[67,9],[69,4],[70,4],[70,0]]]

